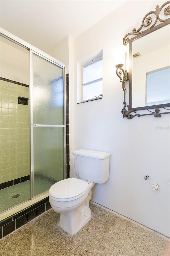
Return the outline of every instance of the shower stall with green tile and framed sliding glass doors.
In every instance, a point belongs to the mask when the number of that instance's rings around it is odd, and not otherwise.
[[[66,97],[63,63],[3,29],[0,43],[4,213],[66,177]]]

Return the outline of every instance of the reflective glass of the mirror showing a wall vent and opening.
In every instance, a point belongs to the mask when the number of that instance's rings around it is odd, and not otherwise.
[[[132,42],[132,108],[170,103],[170,25]]]

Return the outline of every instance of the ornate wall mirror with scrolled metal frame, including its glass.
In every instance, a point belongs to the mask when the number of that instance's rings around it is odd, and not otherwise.
[[[129,45],[129,72],[116,65],[124,91],[123,118],[170,113],[170,1],[156,6],[142,20],[141,27],[125,35]],[[141,31],[142,30],[142,31]],[[129,38],[131,36],[132,38]],[[129,105],[126,106],[129,80]],[[128,109],[126,109],[128,107]],[[141,111],[142,110],[142,111]],[[145,110],[145,111],[144,111]],[[141,111],[141,113],[137,113]],[[149,112],[149,113],[148,113]],[[132,114],[136,113],[136,114]]]

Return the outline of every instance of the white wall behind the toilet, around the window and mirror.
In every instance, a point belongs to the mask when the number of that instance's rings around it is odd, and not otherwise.
[[[93,201],[170,236],[169,115],[122,118],[123,91],[115,72],[118,63],[111,54],[127,33],[140,27],[146,13],[163,3],[128,1],[74,40],[74,84],[70,84],[74,87],[74,106],[70,106],[72,111],[74,107],[74,133],[70,137],[74,137],[74,150],[111,153],[109,181],[94,186]],[[77,62],[101,49],[103,98],[77,104]],[[75,176],[73,168],[70,174]],[[147,181],[145,174],[150,175]],[[154,191],[153,183],[161,189]]]

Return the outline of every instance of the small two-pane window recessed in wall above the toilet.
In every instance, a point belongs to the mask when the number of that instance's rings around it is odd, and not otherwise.
[[[83,101],[102,98],[102,56],[82,66]]]

